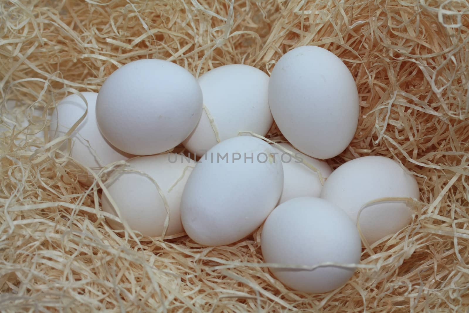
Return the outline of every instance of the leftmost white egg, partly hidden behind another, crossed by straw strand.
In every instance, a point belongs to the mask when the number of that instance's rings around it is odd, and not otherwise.
[[[113,147],[99,132],[95,115],[98,93],[82,92],[82,95],[88,103],[88,113],[70,135],[73,139],[71,156],[83,165],[97,170],[106,164],[132,157],[133,155]],[[85,113],[85,110],[86,104],[80,96],[71,94],[65,97],[53,111],[49,136],[53,138],[64,136]],[[66,144],[62,145],[61,150],[64,150],[66,146]],[[92,183],[91,174],[83,173],[78,178],[82,183],[88,185]]]

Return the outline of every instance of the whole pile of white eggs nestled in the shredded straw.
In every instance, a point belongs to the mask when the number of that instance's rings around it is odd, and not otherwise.
[[[233,64],[197,80],[168,61],[133,61],[113,72],[99,93],[83,96],[88,114],[71,135],[72,157],[94,169],[132,158],[136,170],[106,182],[111,197],[103,192],[104,211],[119,212],[144,235],[185,231],[207,246],[234,243],[264,223],[265,262],[279,264],[272,273],[295,290],[333,290],[353,275],[353,267],[292,267],[358,263],[358,216],[370,244],[411,219],[403,202],[365,204],[419,198],[416,180],[394,160],[367,156],[333,172],[318,160],[348,146],[359,115],[353,76],[323,48],[291,50],[270,77]],[[75,94],[63,99],[52,117],[55,137],[85,109]],[[252,136],[265,136],[273,120],[291,145]],[[181,143],[200,160],[164,153]],[[81,182],[90,184],[88,177],[83,173]]]

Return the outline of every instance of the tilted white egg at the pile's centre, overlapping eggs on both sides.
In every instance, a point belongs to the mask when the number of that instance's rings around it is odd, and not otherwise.
[[[281,162],[261,139],[241,136],[213,146],[186,183],[181,220],[202,245],[225,245],[253,232],[277,204],[283,185]]]

